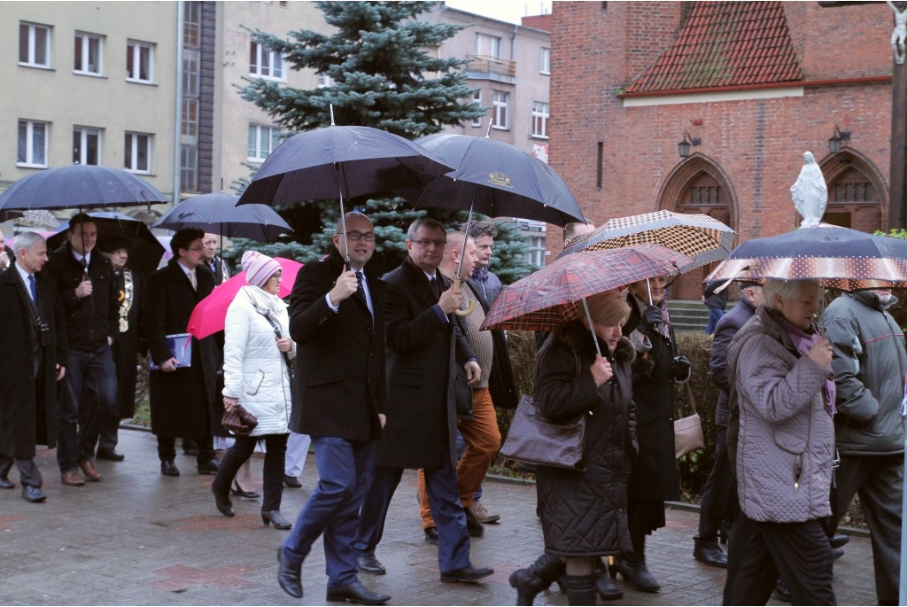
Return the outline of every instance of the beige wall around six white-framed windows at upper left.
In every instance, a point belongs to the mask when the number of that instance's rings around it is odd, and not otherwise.
[[[73,162],[73,127],[100,129],[105,166],[124,168],[126,132],[151,134],[143,179],[171,196],[176,123],[176,2],[0,2],[0,190],[38,168],[16,164],[18,122],[47,122],[49,168]],[[51,28],[49,69],[18,62],[21,23]],[[102,73],[74,73],[75,34],[102,36]],[[153,45],[151,83],[126,80],[127,41]]]

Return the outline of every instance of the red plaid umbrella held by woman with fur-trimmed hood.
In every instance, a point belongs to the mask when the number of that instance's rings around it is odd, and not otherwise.
[[[657,244],[573,253],[503,289],[483,328],[551,330],[580,318],[583,298],[670,274],[691,261]]]

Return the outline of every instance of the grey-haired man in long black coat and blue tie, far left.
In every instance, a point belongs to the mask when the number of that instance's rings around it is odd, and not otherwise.
[[[12,489],[15,463],[28,502],[43,502],[34,445],[56,445],[56,384],[66,373],[66,325],[56,285],[39,272],[47,243],[34,233],[16,239],[18,254],[0,272],[0,488]],[[33,287],[34,286],[34,287]],[[34,290],[33,290],[34,288]]]

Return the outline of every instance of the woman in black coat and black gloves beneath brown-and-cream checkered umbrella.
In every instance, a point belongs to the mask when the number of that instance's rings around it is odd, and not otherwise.
[[[633,401],[639,455],[629,480],[629,534],[633,550],[611,570],[644,592],[660,584],[646,567],[646,535],[665,526],[665,501],[679,498],[674,456],[674,384],[689,378],[689,361],[679,357],[665,301],[667,280],[660,276],[629,286],[632,311],[627,323],[636,348]]]

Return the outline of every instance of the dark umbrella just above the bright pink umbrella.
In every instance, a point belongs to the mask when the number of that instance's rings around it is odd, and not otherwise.
[[[164,213],[152,228],[182,230],[198,228],[226,238],[274,242],[293,231],[287,221],[267,204],[236,206],[237,194],[214,192],[193,196]]]

